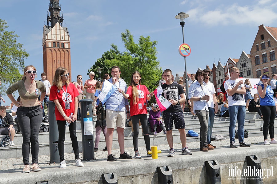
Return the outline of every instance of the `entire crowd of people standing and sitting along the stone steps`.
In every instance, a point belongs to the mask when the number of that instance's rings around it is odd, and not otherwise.
[[[69,123],[69,132],[72,142],[72,148],[75,156],[76,166],[82,167],[83,163],[79,157],[78,140],[76,136],[76,121],[80,120],[80,104],[79,100],[83,98],[92,99],[93,115],[97,115],[95,124],[96,137],[94,151],[98,151],[100,141],[100,133],[103,132],[106,140],[107,161],[116,161],[115,155],[112,154],[112,143],[114,128],[117,131],[118,144],[120,148],[119,159],[140,159],[139,154],[139,126],[142,126],[144,142],[146,146],[146,156],[151,156],[150,133],[163,131],[167,137],[169,145],[168,156],[175,156],[173,148],[173,122],[175,129],[179,131],[179,137],[182,144],[182,155],[192,155],[192,152],[186,145],[185,120],[183,111],[186,105],[191,108],[191,113],[197,115],[200,123],[200,151],[211,151],[216,148],[211,144],[212,130],[214,125],[215,114],[219,112],[220,117],[230,117],[229,138],[230,148],[238,148],[235,144],[235,126],[238,121],[238,138],[240,147],[250,147],[244,141],[244,121],[246,109],[249,112],[258,112],[263,118],[263,135],[264,144],[277,144],[274,139],[274,120],[276,114],[277,92],[276,78],[272,75],[272,80],[267,74],[260,78],[258,85],[258,94],[251,95],[251,83],[246,79],[239,79],[239,69],[231,68],[230,75],[225,75],[223,83],[225,92],[219,93],[215,91],[214,85],[210,82],[211,71],[199,70],[195,74],[191,74],[191,80],[188,81],[188,97],[186,97],[186,87],[183,79],[174,82],[174,75],[170,69],[166,69],[162,73],[162,79],[159,86],[163,89],[162,96],[166,98],[171,105],[160,111],[159,105],[152,103],[149,117],[147,118],[147,103],[154,96],[153,92],[149,92],[147,86],[142,84],[143,76],[139,71],[134,71],[130,78],[130,84],[120,77],[121,71],[118,66],[111,68],[111,78],[109,74],[104,75],[102,81],[94,79],[94,72],[90,71],[90,79],[83,83],[82,75],[77,76],[76,82],[69,81],[70,73],[66,68],[59,67],[55,71],[53,85],[46,80],[46,73],[41,74],[41,80],[35,80],[37,76],[36,68],[29,65],[24,68],[22,80],[12,84],[6,91],[7,96],[14,103],[13,115],[16,115],[16,123],[18,132],[22,133],[22,156],[23,156],[23,173],[32,171],[41,171],[38,166],[38,132],[44,116],[44,102],[51,100],[55,103],[55,115],[58,124],[58,151],[60,156],[60,168],[66,168],[64,158],[64,141],[66,124]],[[274,81],[275,80],[275,81]],[[270,81],[270,82],[269,82]],[[273,82],[272,82],[273,81]],[[105,82],[110,82],[116,87],[116,90],[110,95],[104,104],[98,99]],[[274,83],[275,82],[275,86]],[[269,85],[271,84],[271,85]],[[1,82],[0,82],[1,85]],[[19,98],[15,100],[12,93],[18,91]],[[224,101],[224,96],[227,99]],[[4,101],[0,95],[0,99]],[[186,102],[187,99],[187,102]],[[130,106],[129,102],[130,100]],[[5,101],[4,101],[5,102]],[[130,107],[130,109],[129,109]],[[133,146],[134,157],[130,156],[124,149],[124,128],[126,118],[132,121],[133,128]],[[10,145],[14,146],[15,128],[12,117],[6,113],[6,108],[0,106],[0,134],[8,134],[10,132]],[[163,122],[164,121],[164,125]],[[4,126],[2,126],[4,125]],[[267,139],[269,132],[270,141]],[[32,154],[32,166],[30,167],[29,154]]]

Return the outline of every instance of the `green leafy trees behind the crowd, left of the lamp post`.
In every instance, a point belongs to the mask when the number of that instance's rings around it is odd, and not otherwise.
[[[104,72],[110,74],[110,68],[117,65],[121,70],[121,78],[127,84],[130,84],[133,72],[139,71],[142,75],[142,84],[147,86],[148,90],[152,92],[158,86],[162,73],[156,57],[157,49],[155,46],[157,41],[151,41],[150,36],[140,36],[138,44],[136,44],[129,30],[121,33],[121,38],[126,51],[119,52],[118,47],[112,44],[111,49],[105,52],[102,58],[97,59],[89,71],[93,69],[97,73],[97,68],[101,67],[103,68],[101,74],[104,74]]]

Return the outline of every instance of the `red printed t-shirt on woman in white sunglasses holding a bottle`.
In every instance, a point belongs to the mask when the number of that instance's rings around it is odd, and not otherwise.
[[[63,90],[62,90],[63,89]],[[79,92],[77,88],[74,86],[73,83],[69,83],[69,86],[67,86],[67,101],[70,104],[70,109],[65,109],[65,104],[66,104],[66,85],[62,86],[62,89],[58,90],[57,86],[52,86],[50,89],[50,96],[49,100],[53,101],[58,100],[59,103],[62,106],[62,109],[66,116],[69,117],[70,113],[74,114],[74,98],[79,95]],[[64,92],[65,91],[65,92]],[[55,115],[56,115],[56,120],[59,121],[65,121],[63,118],[63,114],[61,114],[58,110],[57,107],[55,107]]]

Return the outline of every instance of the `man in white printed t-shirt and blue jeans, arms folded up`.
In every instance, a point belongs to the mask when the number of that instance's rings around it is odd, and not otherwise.
[[[245,120],[245,99],[243,94],[246,93],[243,86],[243,80],[239,80],[239,68],[233,67],[230,70],[231,78],[224,83],[225,91],[228,95],[228,105],[230,114],[229,137],[230,148],[238,148],[235,145],[235,127],[238,120],[238,136],[240,147],[250,147],[244,142],[244,120]]]

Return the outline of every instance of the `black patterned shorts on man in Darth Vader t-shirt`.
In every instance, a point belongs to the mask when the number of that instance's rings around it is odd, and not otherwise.
[[[167,130],[172,130],[173,121],[174,121],[175,129],[185,128],[185,120],[184,120],[183,112],[172,113],[168,111],[163,111],[163,120]]]

